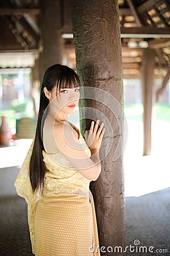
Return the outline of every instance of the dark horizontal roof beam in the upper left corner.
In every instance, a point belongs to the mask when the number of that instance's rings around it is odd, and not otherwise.
[[[24,15],[24,14],[40,14],[39,8],[2,8],[0,15]]]

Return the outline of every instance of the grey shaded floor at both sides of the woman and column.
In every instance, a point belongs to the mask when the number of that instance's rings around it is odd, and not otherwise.
[[[27,204],[24,199],[16,195],[14,188],[18,171],[18,167],[0,169],[0,254],[2,256],[33,255],[29,240]],[[126,255],[170,255],[169,212],[170,188],[145,196],[126,197],[126,246],[134,246],[135,241],[136,244],[140,242],[140,246],[147,247],[145,252],[141,249],[141,253],[130,252],[128,248]],[[151,246],[154,247],[153,251],[158,249],[161,252],[149,253],[148,249]],[[135,250],[136,248],[137,246]],[[164,253],[163,249],[167,249],[168,253]]]

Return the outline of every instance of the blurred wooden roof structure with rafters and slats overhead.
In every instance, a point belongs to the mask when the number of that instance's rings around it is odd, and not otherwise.
[[[155,49],[155,75],[170,66],[170,0],[118,0],[124,77],[140,75],[144,48]],[[62,1],[62,34],[71,34],[69,0]],[[0,0],[0,59],[5,52],[40,51],[40,0]],[[73,39],[65,39],[73,47]],[[1,67],[1,63],[0,63]]]

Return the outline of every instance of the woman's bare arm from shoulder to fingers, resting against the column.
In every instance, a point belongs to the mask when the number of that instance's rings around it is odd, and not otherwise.
[[[101,171],[99,148],[103,138],[104,131],[102,127],[96,133],[98,125],[92,132],[95,138],[94,142],[90,145],[92,152],[89,158],[84,150],[84,147],[79,142],[78,138],[73,137],[70,128],[66,125],[59,124],[57,129],[54,129],[54,139],[56,140],[56,149],[60,151],[63,156],[78,170],[86,179],[96,180]],[[91,126],[91,131],[93,127]],[[87,143],[91,139],[91,134],[86,134],[85,138]],[[87,146],[87,145],[86,145]]]

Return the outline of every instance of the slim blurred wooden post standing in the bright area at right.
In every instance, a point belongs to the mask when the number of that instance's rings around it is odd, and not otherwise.
[[[145,49],[142,61],[143,86],[143,155],[151,155],[152,97],[154,88],[155,50]]]

